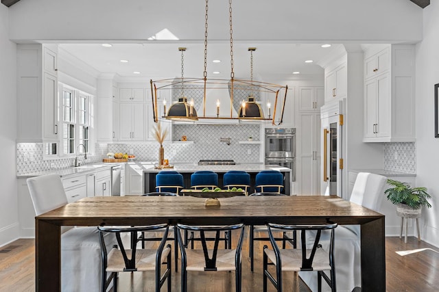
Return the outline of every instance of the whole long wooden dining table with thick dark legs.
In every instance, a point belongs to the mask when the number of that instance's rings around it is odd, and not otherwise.
[[[384,215],[337,196],[236,196],[205,207],[191,196],[83,198],[35,218],[36,291],[60,291],[61,226],[176,224],[359,224],[361,287],[385,291]]]

